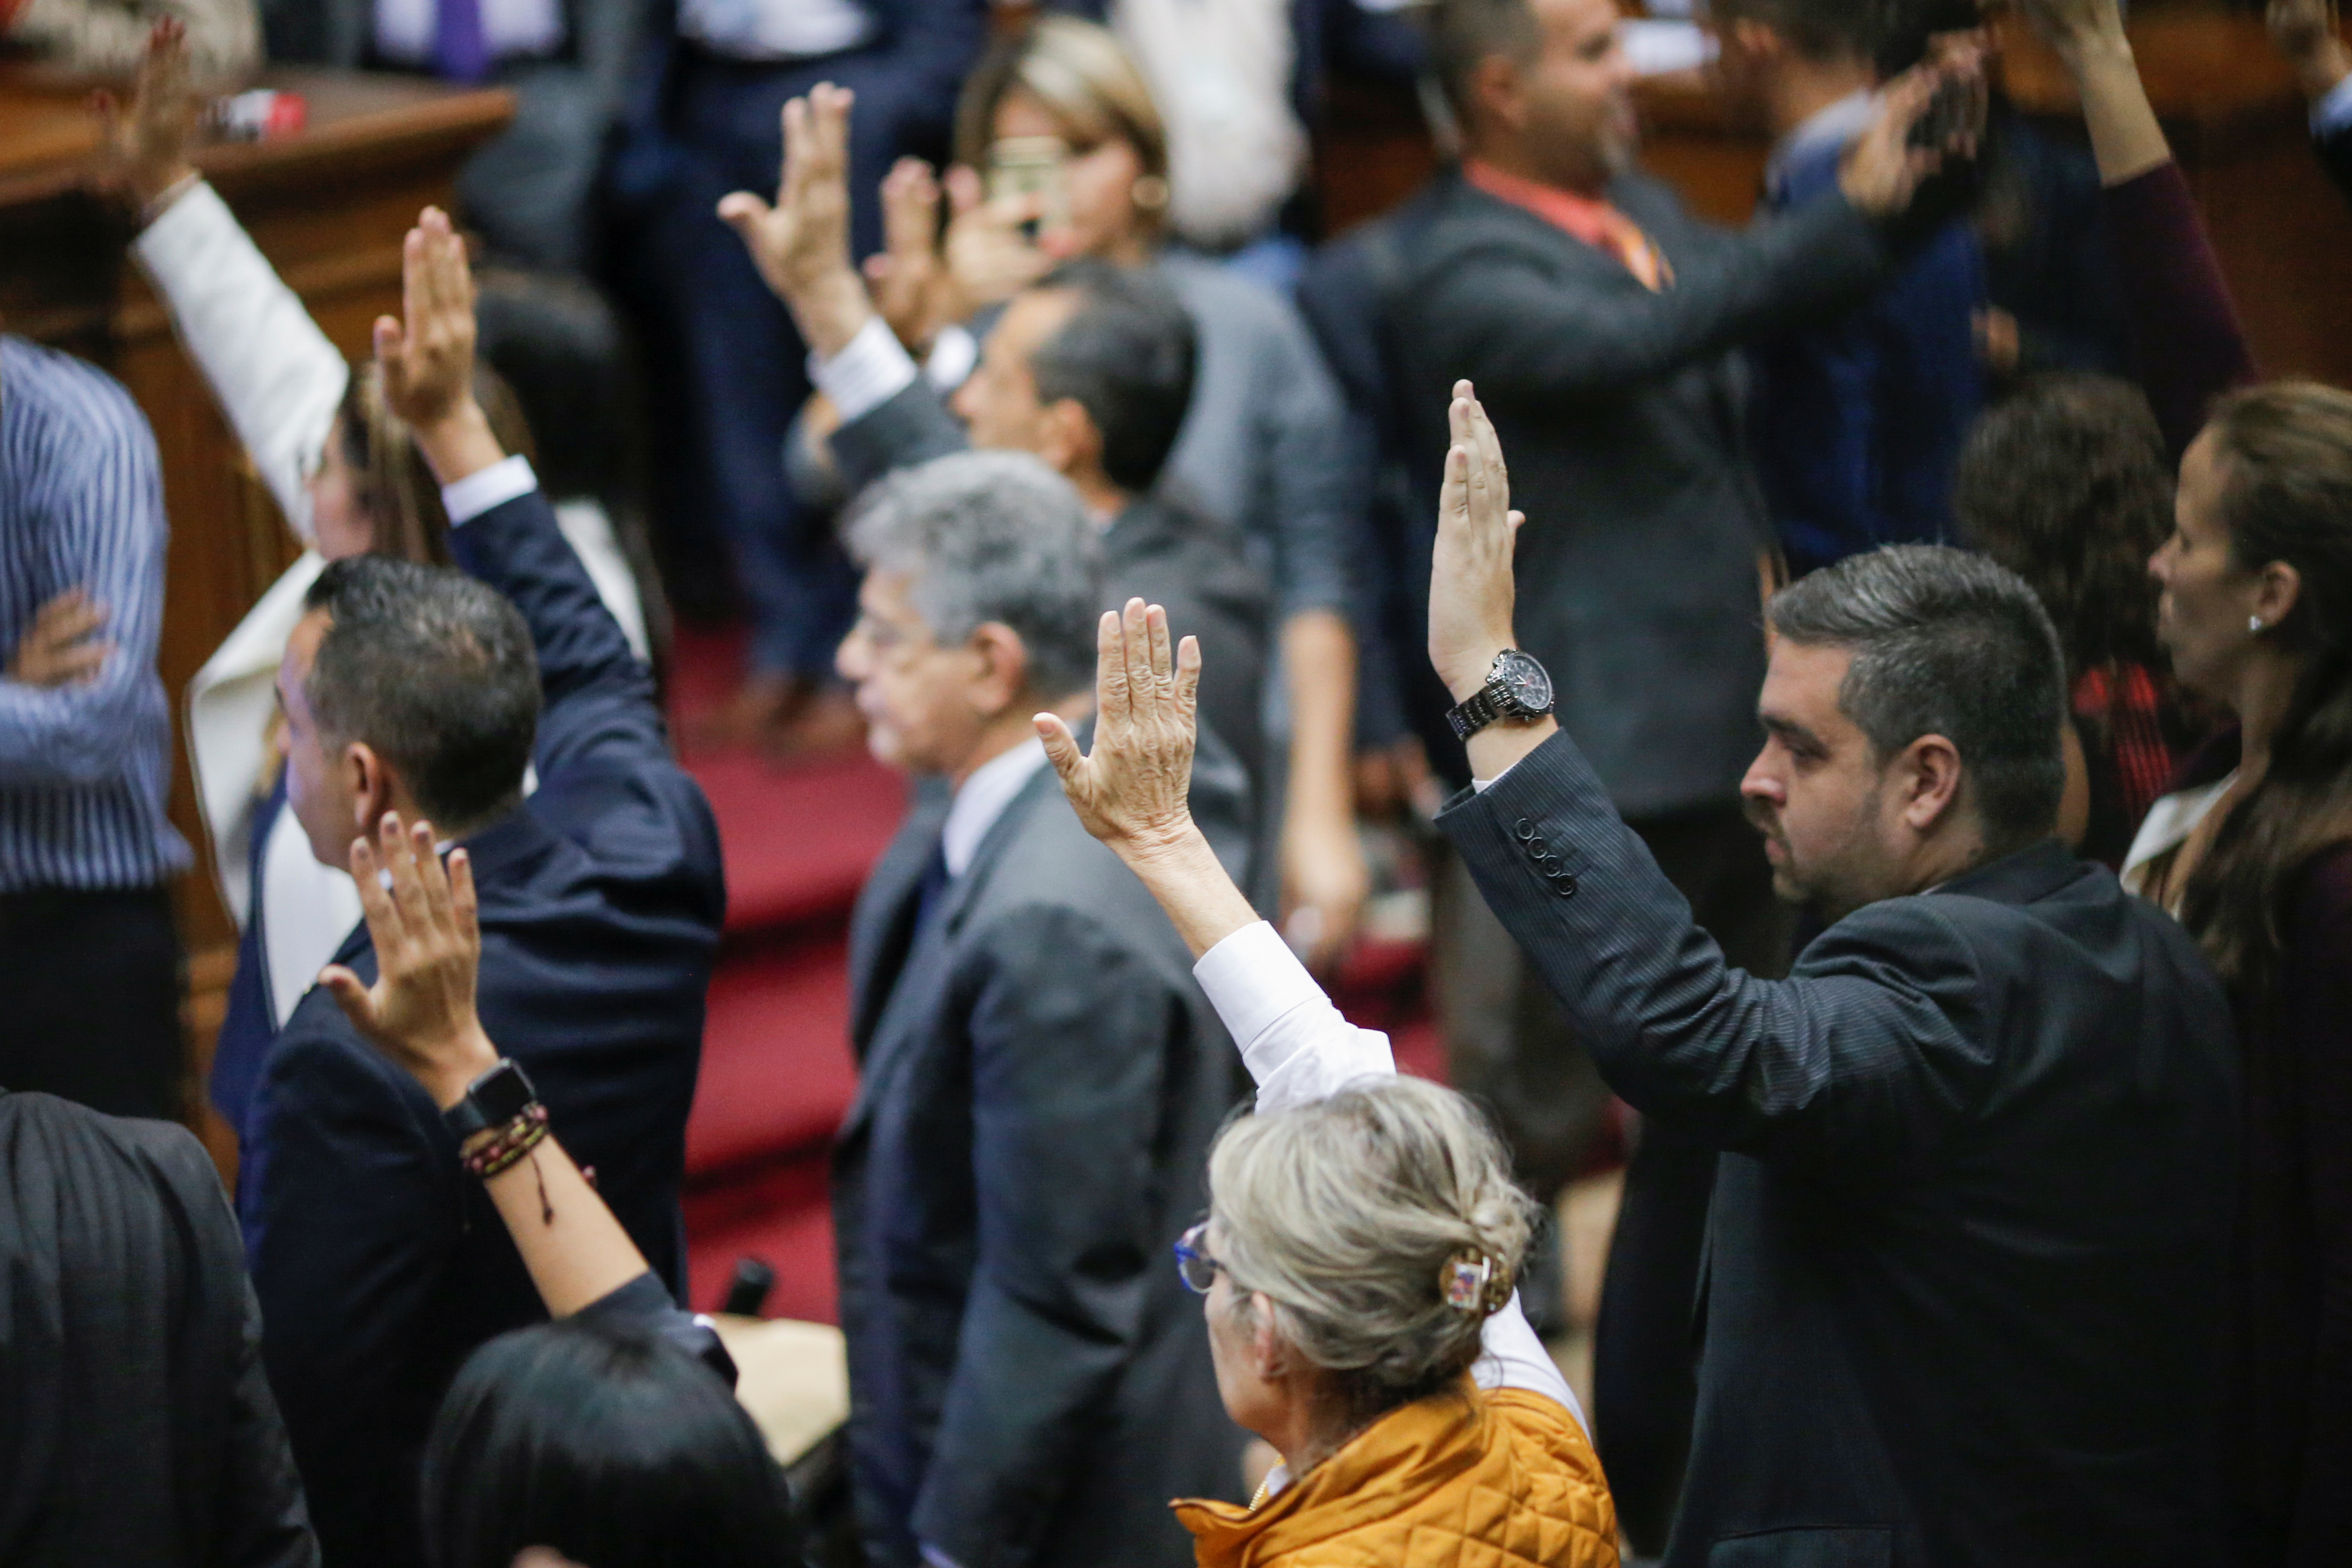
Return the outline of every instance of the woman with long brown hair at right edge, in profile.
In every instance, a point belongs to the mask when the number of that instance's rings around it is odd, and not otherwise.
[[[2239,1016],[2232,1537],[2317,1568],[2352,1561],[2352,393],[2223,397],[2150,569],[2173,670],[2237,719],[2124,870]]]

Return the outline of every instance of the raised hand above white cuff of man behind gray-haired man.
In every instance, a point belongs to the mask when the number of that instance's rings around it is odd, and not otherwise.
[[[736,190],[720,216],[741,235],[760,277],[823,357],[837,355],[873,317],[849,261],[849,108],[856,94],[818,82],[783,106],[783,172],[776,202]]]

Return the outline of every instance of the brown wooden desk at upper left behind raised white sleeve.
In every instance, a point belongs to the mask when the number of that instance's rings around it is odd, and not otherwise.
[[[419,207],[449,205],[459,162],[508,122],[513,96],[320,71],[273,71],[261,85],[303,94],[308,129],[214,146],[198,162],[327,336],[360,355],[369,322],[400,308],[400,240]],[[0,71],[0,317],[9,331],[113,371],[155,425],[172,515],[160,663],[176,710],[188,677],[285,571],[296,543],[129,261],[129,221],[89,188],[96,125],[85,92]],[[200,858],[179,886],[179,917],[191,1065],[202,1077],[235,931],[214,896],[183,748],[172,820]],[[195,1100],[202,1105],[200,1093]],[[228,1152],[226,1128],[205,1133],[216,1157]]]

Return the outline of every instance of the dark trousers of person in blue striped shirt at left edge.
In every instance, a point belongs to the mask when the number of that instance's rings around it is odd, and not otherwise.
[[[0,893],[0,1086],[176,1119],[179,997],[169,891]]]

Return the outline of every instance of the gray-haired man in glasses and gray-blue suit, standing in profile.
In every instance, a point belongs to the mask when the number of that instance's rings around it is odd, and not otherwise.
[[[866,1559],[1178,1568],[1167,1500],[1240,1486],[1169,1267],[1232,1046],[1033,729],[1091,712],[1101,534],[1068,480],[983,451],[875,484],[849,545],[866,581],[835,663],[875,757],[946,783],[851,924],[833,1227]],[[1195,773],[1228,820],[1240,802],[1214,797],[1240,790]]]

